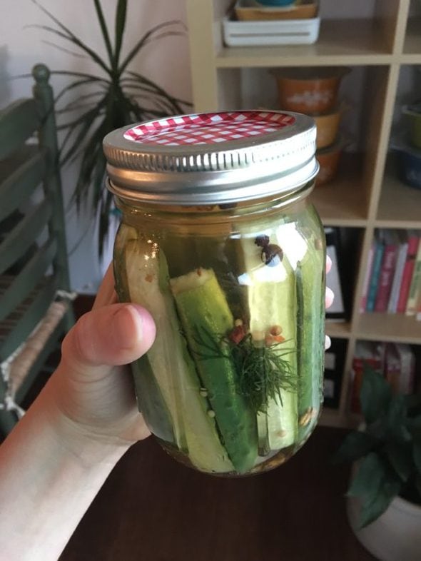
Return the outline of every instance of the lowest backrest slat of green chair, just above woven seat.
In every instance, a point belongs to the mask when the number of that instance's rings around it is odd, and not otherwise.
[[[36,328],[36,325],[41,321],[49,308],[49,305],[54,300],[56,295],[57,280],[51,277],[49,281],[44,283],[34,298],[28,304],[28,307],[21,312],[16,310],[16,325],[14,329],[8,333],[0,343],[0,360],[6,360],[11,353],[19,348],[22,341],[24,341]],[[19,312],[20,317],[19,317]]]

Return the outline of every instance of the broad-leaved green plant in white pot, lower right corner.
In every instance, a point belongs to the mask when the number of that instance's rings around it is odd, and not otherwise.
[[[347,493],[352,530],[382,561],[421,559],[421,395],[393,394],[365,368],[364,422],[347,435],[335,460],[352,462]]]

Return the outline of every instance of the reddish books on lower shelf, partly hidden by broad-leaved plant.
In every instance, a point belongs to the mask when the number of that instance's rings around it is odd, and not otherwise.
[[[360,389],[364,369],[370,366],[382,374],[395,393],[410,395],[415,391],[415,354],[406,343],[357,341],[352,359],[350,410],[360,413]]]

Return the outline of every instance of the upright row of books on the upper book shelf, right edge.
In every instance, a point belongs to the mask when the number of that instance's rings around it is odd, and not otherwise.
[[[375,232],[360,312],[405,313],[421,320],[421,232]]]

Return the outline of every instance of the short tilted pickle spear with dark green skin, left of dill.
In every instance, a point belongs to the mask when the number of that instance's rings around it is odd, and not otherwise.
[[[170,281],[188,341],[228,456],[238,473],[253,468],[258,456],[255,415],[240,394],[238,375],[224,336],[233,315],[215,273],[199,268]]]

